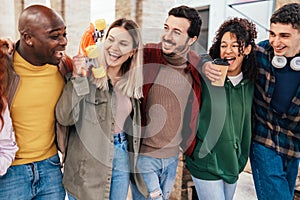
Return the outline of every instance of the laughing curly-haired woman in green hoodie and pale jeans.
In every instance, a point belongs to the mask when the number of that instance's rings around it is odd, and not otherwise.
[[[199,199],[233,198],[239,173],[248,160],[251,106],[256,66],[255,25],[243,18],[225,21],[209,50],[228,64],[224,87],[202,77],[197,145],[186,165]],[[207,75],[206,75],[207,76]]]

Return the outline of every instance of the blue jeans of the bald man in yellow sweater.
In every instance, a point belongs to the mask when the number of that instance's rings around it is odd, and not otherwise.
[[[0,199],[64,200],[58,155],[39,162],[11,166],[0,177]]]

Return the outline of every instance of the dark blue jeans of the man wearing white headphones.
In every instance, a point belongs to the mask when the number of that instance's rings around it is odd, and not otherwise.
[[[288,159],[274,149],[252,142],[250,161],[259,200],[292,200],[299,160]]]

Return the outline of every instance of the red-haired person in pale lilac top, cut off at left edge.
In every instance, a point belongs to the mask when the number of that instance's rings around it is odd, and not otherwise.
[[[8,57],[0,51],[0,176],[6,174],[18,150],[6,97]]]

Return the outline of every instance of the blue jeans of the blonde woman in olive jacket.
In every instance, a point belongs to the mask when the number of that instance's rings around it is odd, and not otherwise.
[[[109,194],[110,200],[126,200],[127,198],[130,181],[130,166],[127,149],[128,141],[125,133],[114,135],[114,159]],[[70,194],[68,194],[68,198],[69,200],[75,200]]]

